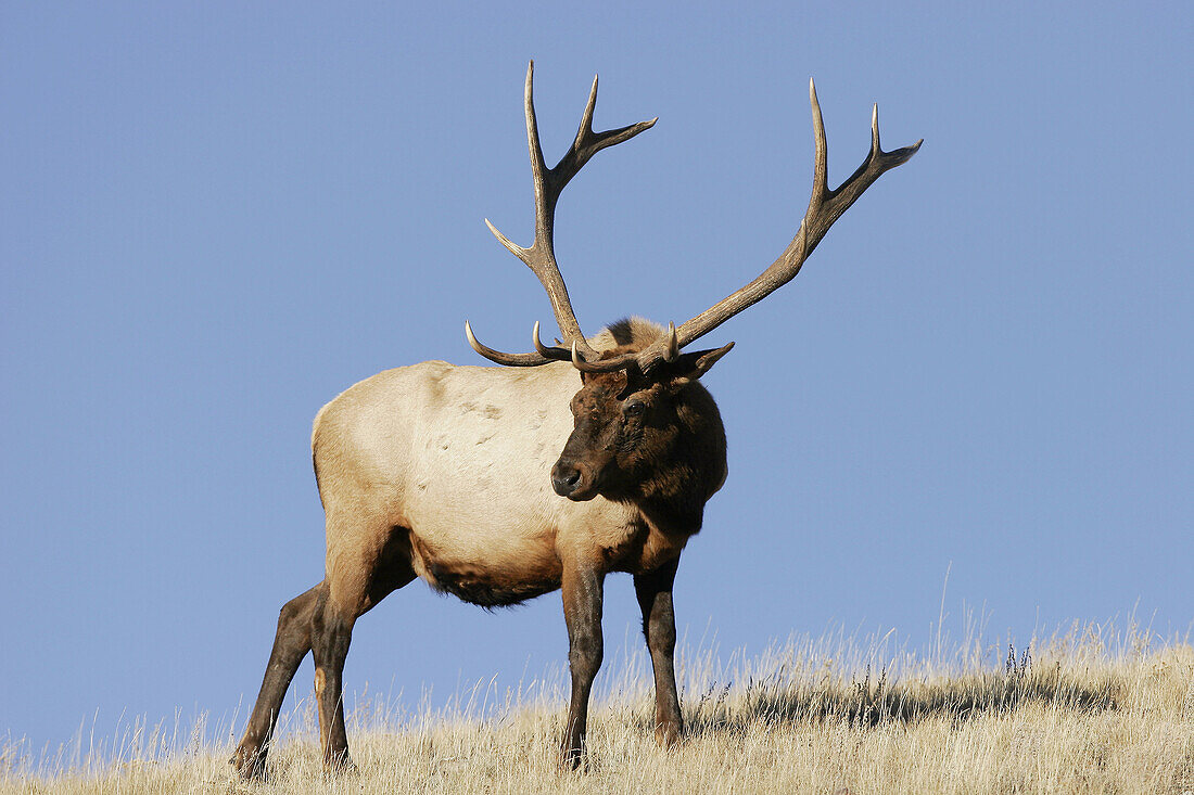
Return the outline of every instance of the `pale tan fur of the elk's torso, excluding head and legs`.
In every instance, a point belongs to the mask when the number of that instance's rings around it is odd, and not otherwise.
[[[599,495],[574,503],[552,491],[578,387],[562,363],[425,362],[380,372],[325,406],[312,451],[333,599],[363,597],[361,554],[395,542],[408,544],[413,572],[429,585],[498,597],[516,585],[558,588],[570,556],[642,572],[678,555],[688,536],[652,529],[633,505]]]

